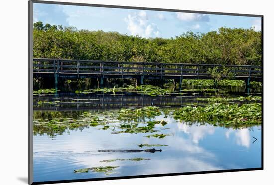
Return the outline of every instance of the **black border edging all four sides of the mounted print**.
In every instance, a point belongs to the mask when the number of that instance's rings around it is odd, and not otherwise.
[[[185,13],[203,13],[214,15],[230,15],[230,16],[248,16],[261,18],[261,50],[262,50],[262,123],[261,123],[261,167],[260,168],[245,168],[245,169],[229,169],[229,170],[213,170],[213,171],[197,171],[197,172],[182,172],[182,173],[168,173],[168,174],[150,174],[137,176],[119,176],[119,177],[105,177],[105,178],[88,178],[88,179],[73,179],[73,180],[57,180],[57,181],[40,181],[33,182],[33,3],[40,4],[59,4],[59,5],[75,5],[75,6],[90,6],[90,7],[106,7],[106,8],[120,8],[120,9],[138,9],[138,10],[152,10],[152,11],[168,11],[168,12],[185,12]],[[225,13],[225,12],[211,12],[211,11],[195,11],[195,10],[179,10],[179,9],[164,9],[164,8],[149,8],[149,7],[135,7],[135,6],[120,6],[120,5],[105,5],[105,4],[88,4],[88,3],[73,3],[73,2],[55,2],[55,1],[28,1],[28,184],[54,184],[54,183],[71,183],[71,182],[86,182],[86,181],[102,181],[102,180],[116,180],[116,179],[133,179],[133,178],[147,178],[147,177],[164,177],[164,176],[178,176],[178,175],[192,175],[192,174],[211,174],[223,172],[242,172],[255,171],[264,169],[264,16],[255,14],[240,14],[240,13]]]

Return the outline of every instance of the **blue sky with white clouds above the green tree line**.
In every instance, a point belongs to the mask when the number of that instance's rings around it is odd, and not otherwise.
[[[220,27],[261,30],[261,18],[135,9],[34,3],[33,21],[77,29],[117,31],[141,37],[170,38],[184,32],[207,33]]]

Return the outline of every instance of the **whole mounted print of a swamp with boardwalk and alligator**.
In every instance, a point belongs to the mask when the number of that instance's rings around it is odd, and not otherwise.
[[[262,16],[30,3],[31,183],[262,169]]]

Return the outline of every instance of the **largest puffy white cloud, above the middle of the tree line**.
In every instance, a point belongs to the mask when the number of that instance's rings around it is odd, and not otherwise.
[[[140,11],[138,14],[129,14],[124,20],[128,24],[127,29],[131,32],[131,35],[139,35],[145,38],[161,35],[157,24],[149,21],[145,11]]]

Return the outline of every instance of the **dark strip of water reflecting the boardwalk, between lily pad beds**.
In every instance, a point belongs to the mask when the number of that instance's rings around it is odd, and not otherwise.
[[[143,106],[172,106],[181,107],[185,104],[204,103],[196,98],[207,98],[215,96],[215,92],[184,92],[183,95],[165,95],[165,96],[148,96],[137,93],[121,94],[88,94],[75,95],[74,93],[60,94],[57,97],[52,95],[34,96],[34,110],[102,110],[118,109],[125,107],[143,107]],[[218,93],[218,95],[222,95]],[[246,95],[242,92],[234,94],[223,94],[225,97],[236,97]],[[256,94],[255,94],[256,95]],[[258,95],[258,94],[257,94]],[[259,94],[260,95],[260,94]],[[38,102],[52,102],[38,104]],[[247,103],[247,102],[242,102]]]

